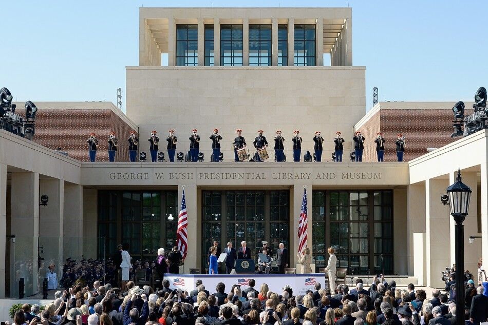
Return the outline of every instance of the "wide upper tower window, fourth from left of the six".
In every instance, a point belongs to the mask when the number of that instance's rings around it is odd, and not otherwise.
[[[249,25],[249,66],[271,66],[271,25]]]

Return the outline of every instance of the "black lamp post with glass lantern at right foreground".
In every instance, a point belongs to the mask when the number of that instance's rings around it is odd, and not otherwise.
[[[464,218],[470,207],[471,188],[461,181],[458,169],[456,182],[446,189],[449,197],[449,209],[456,222],[456,324],[464,324]]]

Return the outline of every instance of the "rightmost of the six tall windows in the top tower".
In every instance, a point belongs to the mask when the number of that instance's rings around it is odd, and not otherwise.
[[[316,66],[315,25],[295,25],[295,66]]]

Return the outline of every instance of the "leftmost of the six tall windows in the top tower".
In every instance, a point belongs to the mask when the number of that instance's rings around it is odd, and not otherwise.
[[[198,25],[176,25],[176,65],[198,66]]]

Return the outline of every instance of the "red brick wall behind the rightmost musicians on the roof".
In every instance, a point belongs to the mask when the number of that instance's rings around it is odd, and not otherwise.
[[[465,116],[473,113],[466,110]],[[360,128],[366,138],[363,161],[377,161],[374,138],[381,131],[385,137],[385,161],[397,161],[397,134],[405,136],[403,160],[408,161],[427,153],[427,148],[440,148],[456,141],[451,138],[453,113],[440,109],[380,109]]]

